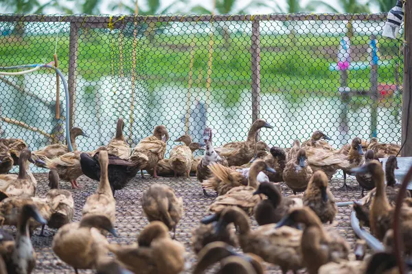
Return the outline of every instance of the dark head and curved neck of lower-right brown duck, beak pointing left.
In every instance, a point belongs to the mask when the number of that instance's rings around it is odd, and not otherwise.
[[[316,225],[322,227],[321,220],[310,208],[304,206],[303,208],[292,208],[289,210],[282,220],[280,220],[276,227],[283,227],[284,225],[296,226],[304,224],[306,227]]]

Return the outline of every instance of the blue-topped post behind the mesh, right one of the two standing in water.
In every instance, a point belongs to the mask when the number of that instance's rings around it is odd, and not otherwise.
[[[370,96],[372,99],[372,105],[371,105],[371,138],[374,138],[377,136],[377,127],[378,127],[378,103],[379,103],[379,95],[378,95],[378,64],[377,60],[374,60],[374,47],[372,44],[375,41],[376,38],[374,35],[371,35],[371,52],[369,53],[370,57],[370,66],[371,66],[371,90],[370,90]],[[378,49],[376,49],[378,50]]]

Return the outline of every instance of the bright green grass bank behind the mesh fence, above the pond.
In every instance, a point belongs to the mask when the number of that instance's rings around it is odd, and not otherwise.
[[[27,35],[23,38],[0,38],[0,64],[12,66],[49,62],[53,59],[56,37]],[[120,42],[122,39],[122,51]],[[266,35],[261,36],[261,86],[262,92],[293,92],[304,95],[320,92],[323,96],[336,97],[340,86],[338,71],[329,71],[331,62],[336,62],[339,36]],[[136,51],[137,79],[145,79],[152,89],[174,83],[188,86],[190,63],[193,62],[193,88],[205,88],[209,60],[207,34],[166,35],[156,34],[152,40],[138,36]],[[367,48],[369,36],[354,36],[352,45]],[[191,45],[195,45],[194,60],[191,60]],[[218,34],[214,36],[211,71],[212,88],[224,93],[221,97],[227,105],[240,98],[240,92],[251,88],[251,38],[242,32],[233,32],[229,40]],[[88,81],[96,81],[107,75],[123,73],[130,79],[133,67],[133,36],[109,34],[107,29],[80,33],[78,51],[78,74]],[[389,66],[379,68],[379,82],[393,83],[393,66],[398,62],[398,42],[380,38],[382,58],[393,59]],[[69,37],[59,36],[58,56],[60,68],[67,73]],[[361,55],[367,58],[367,52]],[[369,69],[350,71],[348,86],[367,90]],[[402,73],[401,73],[402,77]],[[400,79],[402,81],[402,79]]]

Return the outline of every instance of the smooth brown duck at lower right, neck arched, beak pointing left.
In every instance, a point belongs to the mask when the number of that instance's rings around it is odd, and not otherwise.
[[[328,262],[347,260],[350,247],[339,235],[325,232],[321,220],[310,208],[293,208],[277,223],[283,225],[305,225],[301,236],[301,253],[310,274],[317,274],[319,268]]]

